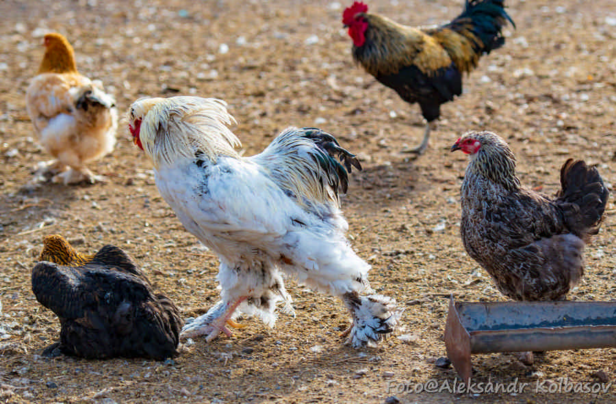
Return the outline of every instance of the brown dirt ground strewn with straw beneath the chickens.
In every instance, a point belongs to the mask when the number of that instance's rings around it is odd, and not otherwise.
[[[350,2],[349,2],[350,3]],[[8,403],[612,403],[615,349],[551,351],[532,366],[513,355],[474,355],[473,379],[528,383],[522,392],[451,394],[438,368],[447,297],[504,300],[459,237],[459,187],[467,159],[449,148],[461,133],[489,129],[508,140],[522,181],[556,191],[567,157],[616,178],[616,9],[612,0],[509,3],[517,29],[465,77],[465,93],[442,107],[427,152],[423,122],[353,64],[342,28],[348,4],[324,1],[0,2],[0,400]],[[558,4],[558,5],[556,5]],[[459,0],[370,1],[370,11],[409,25],[444,23]],[[286,126],[319,126],[359,154],[343,208],[349,237],[372,264],[379,293],[405,307],[401,329],[377,349],[355,350],[339,332],[341,302],[288,282],[297,317],[274,329],[255,319],[232,338],[189,341],[174,360],[42,358],[59,324],[31,293],[42,237],[60,233],[83,252],[113,243],[131,254],[185,317],[217,299],[214,254],[186,232],[154,185],[151,163],[120,124],[115,150],[92,164],[105,183],[23,186],[49,160],[25,111],[42,35],[60,31],[77,65],[116,96],[196,94],[229,103],[246,154]],[[611,187],[611,185],[609,185]],[[611,300],[616,290],[613,200],[586,252],[573,300]],[[404,335],[404,340],[398,338]],[[436,380],[440,392],[418,392]],[[604,394],[550,386],[604,383]],[[433,382],[431,382],[433,383]],[[519,386],[519,384],[518,384]],[[405,390],[406,388],[406,390]],[[418,389],[419,390],[419,389]],[[549,391],[552,391],[551,393]],[[396,399],[392,398],[396,396]]]

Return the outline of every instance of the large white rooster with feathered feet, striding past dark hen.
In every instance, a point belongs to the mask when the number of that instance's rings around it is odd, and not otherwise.
[[[253,157],[226,104],[215,98],[142,98],[129,110],[134,142],[153,161],[156,185],[185,228],[220,258],[220,301],[182,330],[183,337],[220,332],[236,310],[273,327],[277,302],[292,312],[282,273],[339,296],[352,316],[347,342],[378,342],[392,332],[396,301],[370,293],[370,265],[353,252],[339,209],[355,156],[333,136],[289,128]]]

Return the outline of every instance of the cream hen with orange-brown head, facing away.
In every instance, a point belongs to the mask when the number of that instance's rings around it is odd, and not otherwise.
[[[55,161],[42,167],[55,183],[93,183],[86,163],[111,152],[118,114],[99,81],[81,75],[73,46],[60,33],[44,36],[45,53],[26,92],[26,106],[42,148]]]

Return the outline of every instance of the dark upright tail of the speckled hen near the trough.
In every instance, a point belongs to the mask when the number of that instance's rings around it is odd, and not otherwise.
[[[557,202],[572,233],[586,240],[597,234],[607,204],[608,190],[595,167],[568,159],[561,168],[561,191]]]

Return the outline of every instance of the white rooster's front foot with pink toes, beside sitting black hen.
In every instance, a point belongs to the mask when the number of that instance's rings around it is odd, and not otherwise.
[[[205,340],[210,342],[214,340],[221,332],[226,336],[233,336],[233,333],[227,328],[229,324],[233,328],[241,328],[242,326],[231,320],[231,316],[235,309],[246,297],[242,297],[235,302],[218,301],[207,313],[199,316],[191,323],[184,325],[180,338],[192,338],[194,336],[206,335]]]

